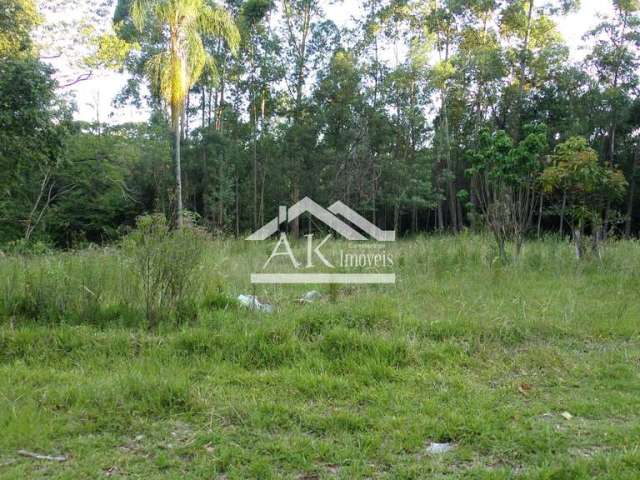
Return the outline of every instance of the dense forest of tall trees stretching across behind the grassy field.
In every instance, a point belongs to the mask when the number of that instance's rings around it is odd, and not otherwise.
[[[119,0],[84,62],[152,114],[114,125],[74,121],[37,5],[3,0],[0,243],[109,242],[151,212],[241,235],[305,196],[405,234],[638,232],[637,0],[579,63],[556,25],[576,1],[361,3],[339,28],[311,0]]]

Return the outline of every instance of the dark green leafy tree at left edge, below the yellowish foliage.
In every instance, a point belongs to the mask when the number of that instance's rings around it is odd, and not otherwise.
[[[29,240],[55,198],[70,111],[55,95],[52,69],[38,60],[0,63],[0,237]]]

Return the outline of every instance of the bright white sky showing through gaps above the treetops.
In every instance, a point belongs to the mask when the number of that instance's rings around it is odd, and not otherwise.
[[[46,1],[46,0],[45,0]],[[331,4],[328,0],[320,0],[324,6],[327,17],[338,25],[346,25],[349,18],[358,15],[361,11],[359,0],[344,0],[338,4]],[[612,10],[610,0],[582,0],[581,8],[578,12],[572,13],[559,20],[559,30],[564,36],[571,49],[573,60],[584,58],[586,51],[582,47],[582,36],[598,22],[598,14],[610,13]],[[45,18],[46,22],[56,22],[60,13]],[[105,18],[105,25],[108,28],[111,18]],[[56,68],[64,74],[65,67],[58,61],[52,61]],[[70,74],[73,77],[74,74]],[[66,78],[69,78],[67,75]],[[79,120],[92,121],[96,119],[96,105],[99,106],[100,120],[108,123],[120,123],[125,121],[144,121],[147,119],[145,110],[138,110],[132,107],[116,109],[112,105],[114,97],[125,85],[126,74],[119,74],[109,71],[94,72],[93,77],[85,82],[65,89],[72,94],[78,106],[76,118]]]

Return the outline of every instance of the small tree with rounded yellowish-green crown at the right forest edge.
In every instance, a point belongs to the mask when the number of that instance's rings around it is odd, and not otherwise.
[[[547,193],[566,196],[578,259],[584,255],[584,231],[591,227],[593,249],[600,254],[603,210],[624,197],[627,181],[619,170],[598,161],[598,154],[582,137],[559,144],[553,162],[542,174]]]

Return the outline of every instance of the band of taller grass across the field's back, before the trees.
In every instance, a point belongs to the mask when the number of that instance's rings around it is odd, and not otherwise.
[[[597,290],[597,297],[616,298],[640,282],[637,241],[611,242],[602,260],[577,261],[569,244],[548,238],[529,242],[517,261],[504,263],[490,239],[461,235],[419,237],[390,245],[398,278],[392,287],[254,287],[249,275],[261,267],[271,247],[235,240],[199,243],[198,248],[203,250],[198,252],[201,260],[195,268],[184,271],[189,277],[188,283],[184,282],[188,285],[184,294],[197,307],[196,314],[207,318],[212,311],[235,308],[233,299],[239,293],[255,293],[280,310],[288,310],[305,290],[315,288],[326,297],[342,299],[347,304],[353,300],[367,305],[373,300],[375,305],[376,299],[386,299],[392,305],[388,310],[393,311],[393,316],[405,319],[420,317],[424,313],[421,308],[428,309],[430,316],[440,317],[444,311],[459,311],[462,316],[473,306],[475,314],[468,321],[477,325],[481,317],[493,317],[487,325],[478,327],[488,330],[501,322],[525,320],[527,314],[537,321],[541,316],[553,317],[558,325],[558,316],[569,320],[576,317],[576,310],[591,307],[583,321],[598,318],[602,325],[600,309],[594,304],[602,298],[589,298],[584,293],[591,289]],[[332,248],[343,247],[337,242]],[[302,242],[294,245],[301,255],[305,248]],[[0,321],[143,326],[146,287],[138,275],[138,259],[125,253],[109,247],[0,259]],[[169,260],[165,274],[168,277],[171,265],[179,263],[179,259]],[[563,301],[558,301],[560,297]],[[349,304],[347,310],[352,307]],[[612,320],[624,318],[632,307],[618,302],[607,316]],[[512,313],[509,320],[498,313],[505,309]],[[439,318],[438,322],[453,320],[456,319]],[[442,328],[443,325],[434,324],[432,330]]]

